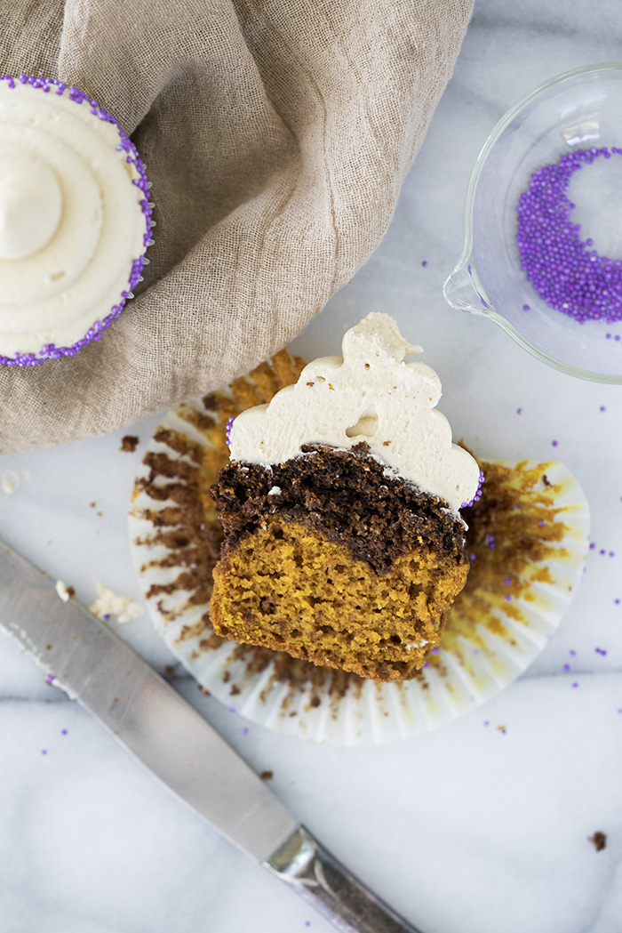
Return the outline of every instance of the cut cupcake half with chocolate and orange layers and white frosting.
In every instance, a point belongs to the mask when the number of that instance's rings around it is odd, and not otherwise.
[[[479,468],[435,411],[440,383],[386,314],[230,430],[214,498],[217,634],[392,680],[422,667],[463,589],[459,509]]]

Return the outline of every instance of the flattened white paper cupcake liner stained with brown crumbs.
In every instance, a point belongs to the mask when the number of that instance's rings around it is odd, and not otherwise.
[[[208,404],[213,400],[207,400]],[[212,412],[211,416],[222,422],[224,414]],[[380,684],[312,668],[306,662],[292,666],[291,661],[291,670],[285,664],[283,675],[283,654],[257,653],[254,648],[211,638],[209,603],[197,598],[192,584],[196,561],[184,550],[187,503],[180,505],[185,482],[190,496],[194,484],[196,498],[196,460],[200,452],[214,450],[214,432],[222,434],[223,425],[214,428],[209,419],[210,409],[202,402],[166,414],[136,479],[130,537],[136,573],[157,631],[200,686],[230,709],[269,729],[314,742],[380,745],[432,731],[485,703],[545,648],[581,578],[589,520],[585,495],[568,470],[558,462],[538,465],[533,461],[488,464],[489,469],[491,465],[507,468],[508,476],[518,478],[518,485],[522,482],[521,497],[513,509],[517,520],[528,517],[532,532],[533,527],[542,527],[544,553],[521,567],[506,593],[505,580],[492,579],[490,585],[484,580],[474,592],[469,592],[467,583],[440,648],[412,680]],[[198,445],[189,455],[185,441]],[[172,479],[171,472],[180,464],[182,473],[189,471],[189,479]],[[210,480],[214,477],[208,471],[203,485]],[[154,490],[160,498],[153,497]],[[166,497],[169,490],[172,495]],[[486,492],[485,483],[484,497]],[[162,518],[169,530],[179,533],[173,546],[170,541],[159,543]],[[503,518],[512,521],[514,514]],[[471,522],[476,522],[475,510]],[[196,521],[194,527],[196,531]],[[503,540],[496,545],[503,547]],[[481,554],[481,542],[478,547]],[[180,553],[186,554],[185,566],[179,564]],[[475,581],[476,563],[470,574]],[[296,670],[302,673],[299,680],[292,677]]]

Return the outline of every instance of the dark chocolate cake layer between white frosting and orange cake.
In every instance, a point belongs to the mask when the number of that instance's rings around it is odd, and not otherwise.
[[[463,525],[447,504],[387,475],[366,443],[350,451],[322,445],[283,464],[230,463],[212,488],[225,529],[224,553],[272,517],[322,533],[378,574],[413,550],[464,564]]]

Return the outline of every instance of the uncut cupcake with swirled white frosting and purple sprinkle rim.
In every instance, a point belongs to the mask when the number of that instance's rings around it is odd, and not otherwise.
[[[99,340],[151,243],[145,167],[82,91],[0,78],[0,363],[34,366]]]

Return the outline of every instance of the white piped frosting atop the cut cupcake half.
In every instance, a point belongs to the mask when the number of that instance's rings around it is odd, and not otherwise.
[[[314,360],[295,385],[235,419],[231,460],[270,466],[302,455],[306,444],[350,450],[365,441],[371,455],[457,512],[477,494],[479,467],[435,410],[434,369],[404,359],[421,349],[388,314],[367,314],[345,334],[343,356]]]

